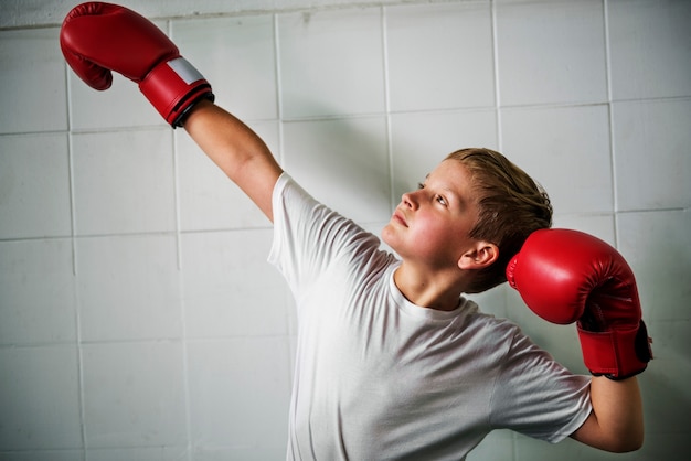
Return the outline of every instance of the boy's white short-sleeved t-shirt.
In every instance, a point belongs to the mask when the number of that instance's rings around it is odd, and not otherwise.
[[[463,460],[492,429],[556,442],[589,415],[589,377],[472,301],[407,301],[379,239],[285,173],[273,212],[298,309],[288,460]]]

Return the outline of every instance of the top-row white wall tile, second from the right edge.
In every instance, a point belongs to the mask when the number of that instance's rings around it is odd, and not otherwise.
[[[606,99],[603,2],[496,3],[502,105]]]

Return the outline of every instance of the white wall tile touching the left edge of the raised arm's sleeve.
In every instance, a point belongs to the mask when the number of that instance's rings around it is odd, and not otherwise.
[[[288,293],[266,261],[270,244],[269,229],[182,235],[188,337],[288,334]]]

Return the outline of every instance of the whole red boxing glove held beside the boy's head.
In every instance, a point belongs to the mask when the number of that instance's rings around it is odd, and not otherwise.
[[[652,358],[634,272],[605,242],[577,230],[535,230],[507,266],[507,279],[544,320],[577,322],[592,374],[624,379]]]

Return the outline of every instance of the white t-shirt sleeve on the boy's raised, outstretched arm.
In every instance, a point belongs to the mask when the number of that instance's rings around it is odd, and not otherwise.
[[[268,261],[298,294],[315,283],[330,265],[378,248],[376,236],[315,200],[287,173],[273,193],[274,238]]]

